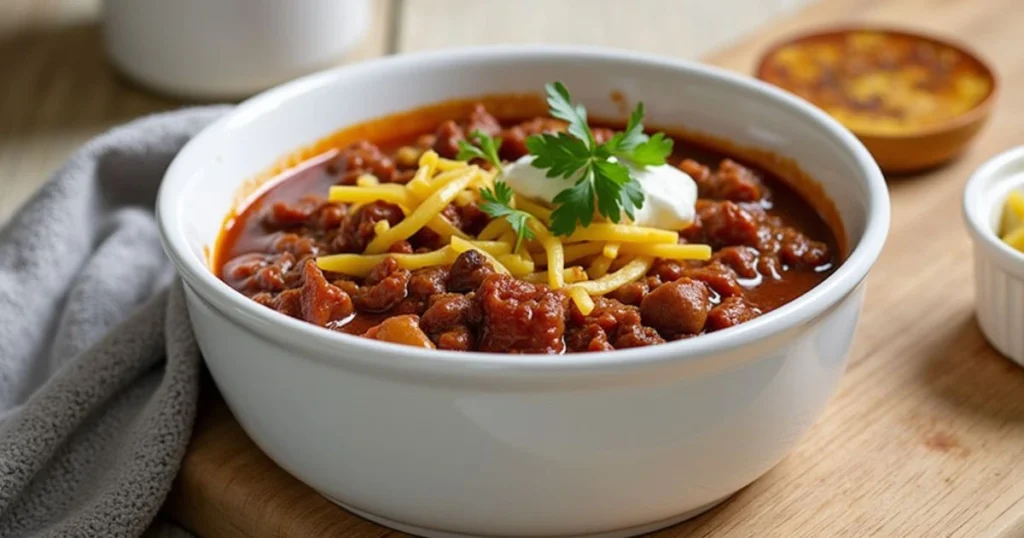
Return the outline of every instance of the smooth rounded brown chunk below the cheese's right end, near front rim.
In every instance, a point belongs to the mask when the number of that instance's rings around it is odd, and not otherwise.
[[[703,330],[710,307],[707,286],[684,277],[644,297],[640,315],[645,325],[663,335],[697,334]]]

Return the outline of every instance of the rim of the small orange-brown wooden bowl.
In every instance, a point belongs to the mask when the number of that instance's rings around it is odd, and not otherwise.
[[[880,34],[890,34],[894,36],[907,37],[911,39],[928,41],[931,43],[937,43],[943,46],[947,46],[970,57],[977,65],[981,66],[981,69],[985,72],[985,75],[988,77],[988,80],[992,83],[992,87],[991,89],[989,89],[988,94],[985,95],[985,98],[981,99],[981,101],[979,101],[977,105],[975,105],[968,111],[959,115],[953,116],[952,118],[949,118],[947,120],[926,127],[922,127],[919,129],[914,129],[912,131],[903,134],[871,133],[847,127],[848,129],[853,131],[853,133],[856,134],[857,136],[863,138],[888,141],[888,140],[910,140],[910,139],[925,138],[928,136],[934,136],[936,134],[946,133],[949,131],[964,128],[968,125],[972,125],[976,122],[983,121],[991,112],[992,104],[994,104],[995,99],[998,98],[998,94],[1000,92],[1000,81],[998,75],[995,72],[995,69],[992,67],[991,64],[988,63],[988,60],[985,59],[984,56],[975,51],[975,49],[972,48],[970,45],[967,45],[966,43],[959,41],[958,39],[944,37],[944,36],[940,37],[938,35],[931,34],[928,32],[911,30],[896,25],[884,25],[884,24],[836,25],[809,32],[798,33],[790,37],[781,38],[768,45],[765,51],[758,58],[758,61],[756,64],[757,68],[754,71],[755,76],[758,78],[758,80],[767,82],[764,78],[764,70],[767,67],[768,59],[784,46],[793,45],[795,43],[800,43],[804,41],[830,37],[839,34],[850,34],[854,32],[877,32]],[[769,82],[769,84],[771,83]],[[772,85],[774,86],[774,84]],[[782,86],[778,87],[785,89]]]

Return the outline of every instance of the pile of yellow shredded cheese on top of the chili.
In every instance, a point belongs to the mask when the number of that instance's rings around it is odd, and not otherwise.
[[[402,158],[407,160],[415,155],[406,154]],[[450,204],[465,206],[477,202],[479,190],[494,185],[495,172],[442,159],[432,151],[417,157],[419,167],[404,185],[381,183],[367,174],[359,176],[354,185],[331,188],[332,202],[353,206],[386,202],[397,205],[404,216],[394,224],[377,221],[374,237],[364,253],[319,256],[317,266],[365,278],[387,257],[393,257],[401,268],[415,271],[451,264],[461,253],[476,250],[498,273],[563,289],[577,308],[587,315],[594,309],[593,297],[642,278],[653,258],[711,256],[707,245],[680,245],[677,232],[632,223],[597,221],[568,237],[556,237],[547,227],[552,210],[521,197],[515,197],[512,203],[528,214],[525,221],[534,238],[522,241],[519,250],[513,251],[517,237],[504,218],[490,220],[476,237],[470,237],[445,218],[443,212]],[[447,246],[416,254],[387,252],[395,243],[425,227],[438,234]],[[566,267],[566,263],[573,264]]]

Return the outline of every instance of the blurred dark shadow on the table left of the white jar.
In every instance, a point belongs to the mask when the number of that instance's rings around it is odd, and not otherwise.
[[[0,143],[54,131],[100,132],[184,105],[145,91],[110,66],[99,25],[0,33]]]

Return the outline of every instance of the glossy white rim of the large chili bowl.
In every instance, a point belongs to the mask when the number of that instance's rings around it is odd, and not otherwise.
[[[377,72],[401,71],[402,67],[423,63],[439,67],[487,60],[604,60],[641,64],[652,69],[683,71],[691,76],[728,84],[774,105],[804,116],[823,134],[829,135],[848,153],[863,177],[866,201],[865,226],[842,265],[816,287],[760,318],[698,338],[664,344],[616,349],[613,351],[564,355],[510,355],[481,351],[443,353],[390,342],[379,342],[355,335],[330,331],[322,327],[284,316],[267,308],[230,288],[216,278],[206,263],[191,252],[184,234],[180,233],[178,195],[188,184],[189,161],[216,154],[218,137],[229,126],[247,118],[272,110],[284,100],[301,98],[314,89],[329,86],[337,79],[358,78]],[[339,126],[340,127],[340,126]],[[209,147],[209,148],[208,148]],[[864,280],[878,259],[889,230],[890,206],[885,178],[864,146],[839,122],[809,102],[768,83],[724,69],[678,58],[633,51],[571,45],[490,45],[439,49],[412,54],[399,54],[360,64],[342,66],[314,73],[266,90],[239,105],[214,121],[190,139],[168,167],[157,200],[157,220],[161,242],[184,282],[206,302],[248,331],[276,343],[297,349],[337,366],[360,366],[374,371],[392,373],[484,376],[538,376],[559,374],[607,374],[649,367],[678,366],[702,358],[718,356],[764,341],[793,329],[805,326],[820,317],[849,295]],[[339,347],[347,353],[341,356]],[[381,358],[383,356],[383,359]]]

